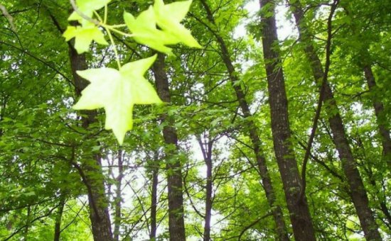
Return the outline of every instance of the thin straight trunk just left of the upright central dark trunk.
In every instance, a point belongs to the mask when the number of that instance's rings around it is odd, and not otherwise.
[[[159,184],[159,152],[154,154],[154,167],[152,167],[152,191],[151,191],[151,234],[150,240],[156,240],[156,208],[158,205]]]

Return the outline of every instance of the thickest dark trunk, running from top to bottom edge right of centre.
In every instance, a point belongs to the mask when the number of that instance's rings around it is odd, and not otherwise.
[[[309,207],[305,195],[301,196],[299,169],[291,146],[288,100],[286,99],[282,62],[277,52],[277,26],[274,17],[274,3],[260,0],[261,8],[268,5],[269,13],[262,12],[262,45],[269,89],[269,105],[272,116],[274,152],[284,185],[286,203],[289,209],[296,240],[315,240]]]

